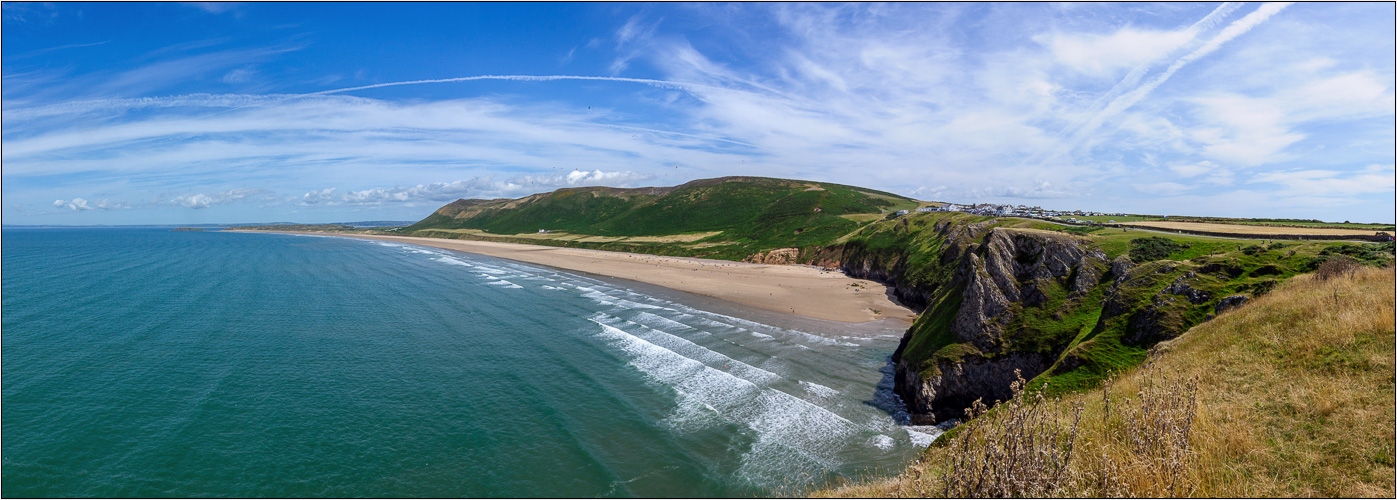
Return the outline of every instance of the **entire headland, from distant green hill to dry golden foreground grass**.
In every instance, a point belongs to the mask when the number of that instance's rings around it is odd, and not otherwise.
[[[975,399],[1018,401],[1010,390],[1018,374],[1031,394],[1065,402],[1011,402],[971,429],[1016,408],[1084,405],[1071,480],[1051,485],[1053,494],[1391,496],[1390,480],[1373,479],[1390,479],[1393,466],[1391,242],[897,214],[921,205],[852,186],[724,177],[458,200],[411,226],[366,232],[837,267],[887,284],[921,310],[893,356],[897,391],[914,420],[960,418]],[[1282,225],[1291,233],[1317,221],[1206,222]],[[1368,270],[1351,279],[1292,279],[1326,263]],[[1154,369],[1140,374],[1147,359]],[[1175,383],[1146,383],[1157,370]],[[1108,383],[1113,376],[1120,378]],[[1192,377],[1197,394],[1187,412],[1173,413],[1193,425],[1187,453],[1161,444],[1155,462],[1130,458],[1139,451],[1130,447],[1150,441],[1130,432],[1148,412],[1123,398],[1180,404],[1179,377]],[[1350,426],[1368,441],[1343,434]],[[956,443],[954,434],[942,441]],[[1155,441],[1168,444],[1166,437]],[[935,479],[949,464],[944,450],[929,450],[898,479],[834,494],[935,493],[944,486]],[[1185,483],[1180,464],[1192,471]],[[1113,483],[1120,478],[1147,479]],[[972,493],[950,493],[957,492]]]

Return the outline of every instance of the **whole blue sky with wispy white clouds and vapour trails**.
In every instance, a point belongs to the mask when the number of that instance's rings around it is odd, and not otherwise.
[[[760,175],[1393,221],[1394,6],[4,3],[4,223]]]

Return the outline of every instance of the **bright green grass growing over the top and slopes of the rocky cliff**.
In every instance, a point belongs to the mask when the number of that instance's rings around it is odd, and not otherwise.
[[[956,261],[940,258],[944,242],[932,230],[936,223],[986,223],[997,228],[1058,230],[1085,236],[1108,258],[1130,253],[1130,242],[1140,237],[1165,237],[1180,247],[1158,261],[1139,261],[1137,278],[1120,285],[1120,299],[1134,311],[1155,302],[1157,320],[1165,330],[1183,332],[1203,323],[1218,300],[1231,295],[1263,295],[1280,281],[1313,270],[1316,258],[1327,253],[1350,253],[1372,257],[1376,246],[1352,246],[1322,242],[1238,240],[1206,236],[1168,235],[1106,228],[1062,226],[1041,221],[1016,218],[988,218],[968,214],[914,214],[895,221],[865,226],[847,240],[856,249],[854,256],[872,256],[886,267],[901,265],[905,281],[912,286],[947,284]],[[1344,251],[1338,251],[1344,250]],[[1389,250],[1390,251],[1390,250]],[[1143,271],[1143,272],[1140,272]],[[1193,304],[1180,296],[1158,292],[1175,279],[1193,272],[1190,285],[1204,291],[1210,299]],[[1053,369],[1032,381],[1037,387],[1049,383],[1049,394],[1062,394],[1095,387],[1113,372],[1139,365],[1155,339],[1127,339],[1132,313],[1101,320],[1106,291],[1113,277],[1104,277],[1090,293],[1069,297],[1062,282],[1045,288],[1048,302],[1037,307],[1014,304],[1014,320],[1006,327],[1011,351],[1032,351],[1058,355]],[[960,307],[961,291],[940,286],[928,309],[912,324],[912,338],[902,351],[902,359],[918,366],[923,376],[933,376],[936,362],[954,360],[967,353],[978,353],[970,344],[960,344],[947,331],[951,316]]]

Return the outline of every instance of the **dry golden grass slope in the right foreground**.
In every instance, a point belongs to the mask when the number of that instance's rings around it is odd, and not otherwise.
[[[1296,277],[1102,390],[1046,402],[1058,429],[1083,412],[1066,479],[1041,494],[1393,497],[1394,288],[1390,267]],[[1009,429],[1011,413],[974,423]],[[964,494],[947,490],[964,434],[897,478],[813,494]]]

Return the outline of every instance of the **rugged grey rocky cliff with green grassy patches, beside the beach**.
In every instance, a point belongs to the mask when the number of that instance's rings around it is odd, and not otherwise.
[[[1006,399],[1016,370],[1051,391],[1091,387],[1245,302],[1257,284],[1243,267],[1273,265],[1109,258],[1087,236],[958,215],[888,221],[802,261],[887,284],[922,313],[893,355],[895,391],[918,423]]]

